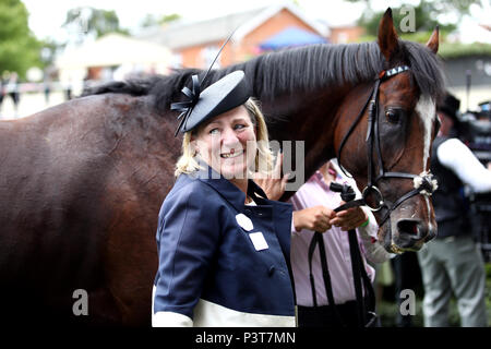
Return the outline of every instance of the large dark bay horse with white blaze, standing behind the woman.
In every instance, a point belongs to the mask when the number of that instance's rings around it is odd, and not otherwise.
[[[364,104],[374,79],[402,64],[409,70],[378,89],[380,155],[387,171],[428,170],[435,101],[443,91],[438,45],[438,31],[427,46],[399,40],[387,11],[378,43],[270,53],[213,71],[207,84],[243,70],[272,139],[304,141],[306,179],[337,155],[354,125],[342,164],[362,189],[369,173]],[[32,117],[0,122],[5,320],[29,326],[149,324],[157,215],[181,146],[169,104],[196,72],[109,83]],[[376,153],[370,157],[380,167]],[[378,185],[394,203],[415,184],[384,178]],[[375,215],[380,220],[382,213]],[[416,195],[392,212],[379,239],[387,249],[417,250],[434,229],[431,202]],[[88,293],[87,316],[73,314],[77,289]]]

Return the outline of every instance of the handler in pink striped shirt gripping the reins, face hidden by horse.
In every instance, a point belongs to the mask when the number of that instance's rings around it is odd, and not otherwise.
[[[391,257],[376,241],[379,226],[369,209],[354,207],[335,213],[344,202],[339,193],[330,190],[332,181],[351,185],[361,196],[351,179],[342,178],[336,160],[326,163],[289,200],[294,205],[291,224],[290,262],[298,305],[298,325],[303,326],[358,326],[356,292],[351,268],[348,230],[357,229],[361,260],[368,277],[373,282],[375,270],[368,263],[382,263]],[[260,182],[270,196],[279,197],[285,181]],[[276,184],[276,188],[275,188]],[[273,200],[275,198],[273,197]],[[323,232],[325,255],[331,277],[335,309],[328,306],[323,280],[320,250],[312,255],[314,291],[310,279],[309,246],[314,232]],[[315,301],[314,296],[315,294]],[[367,296],[367,294],[364,294]],[[340,322],[339,322],[340,317]]]

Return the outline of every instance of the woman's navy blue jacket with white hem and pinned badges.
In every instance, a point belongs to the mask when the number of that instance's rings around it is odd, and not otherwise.
[[[153,325],[294,326],[291,205],[263,198],[252,180],[258,205],[244,205],[246,194],[212,172],[179,176],[161,206]]]

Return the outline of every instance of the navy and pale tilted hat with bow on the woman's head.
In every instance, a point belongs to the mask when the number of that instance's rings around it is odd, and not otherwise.
[[[192,131],[201,123],[243,105],[251,92],[243,71],[229,73],[201,92],[197,75],[192,76],[192,87],[182,88],[190,99],[173,103],[170,108],[181,111],[178,132]]]

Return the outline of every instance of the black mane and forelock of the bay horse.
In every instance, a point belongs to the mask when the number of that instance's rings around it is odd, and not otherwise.
[[[444,74],[441,60],[421,44],[399,40],[395,61],[408,64],[414,82],[422,95],[439,99],[444,95]],[[376,43],[346,45],[312,45],[285,49],[259,56],[247,62],[225,69],[212,70],[202,89],[235,70],[243,70],[253,96],[273,99],[280,94],[314,92],[330,86],[359,84],[373,81],[390,68]],[[166,111],[176,100],[182,100],[180,91],[191,81],[191,75],[204,71],[196,69],[175,70],[170,75],[152,75],[130,79],[125,82],[109,82],[87,88],[82,96],[121,93],[133,96],[152,95],[158,111]]]

